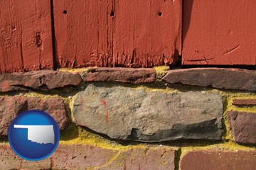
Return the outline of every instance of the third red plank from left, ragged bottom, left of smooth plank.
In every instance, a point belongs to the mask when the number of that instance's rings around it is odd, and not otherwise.
[[[114,1],[115,66],[153,67],[181,55],[180,0]]]

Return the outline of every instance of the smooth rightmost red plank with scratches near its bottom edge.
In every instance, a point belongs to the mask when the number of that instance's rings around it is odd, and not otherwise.
[[[183,64],[256,64],[256,1],[184,0]]]

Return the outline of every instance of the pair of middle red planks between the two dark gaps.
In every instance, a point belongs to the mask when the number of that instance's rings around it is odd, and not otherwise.
[[[53,2],[59,67],[152,67],[181,54],[181,0]]]

